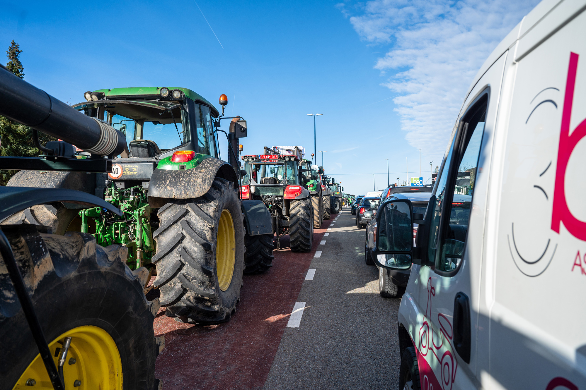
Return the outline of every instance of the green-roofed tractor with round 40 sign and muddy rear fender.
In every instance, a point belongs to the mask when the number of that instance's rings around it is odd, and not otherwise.
[[[111,172],[21,170],[8,186],[85,191],[122,215],[104,207],[47,203],[3,223],[43,225],[54,234],[80,231],[98,245],[128,248],[131,270],[145,267],[156,275],[145,292],[160,295],[167,316],[189,323],[229,320],[240,299],[245,259],[254,257],[246,255],[254,245],[245,242],[272,241],[267,208],[240,199],[236,145],[247,135],[246,121],[220,115],[188,88],[114,88],[84,97],[72,107],[126,138],[126,148],[112,156]],[[222,95],[222,112],[226,104]],[[217,129],[220,119],[232,119],[229,133]],[[220,159],[217,131],[229,138],[229,162]],[[76,157],[94,155],[86,150]],[[272,256],[271,247],[265,252]]]

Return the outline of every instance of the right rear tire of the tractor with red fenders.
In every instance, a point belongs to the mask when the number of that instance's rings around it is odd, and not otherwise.
[[[309,252],[314,241],[311,199],[291,200],[289,211],[289,245],[293,252]]]

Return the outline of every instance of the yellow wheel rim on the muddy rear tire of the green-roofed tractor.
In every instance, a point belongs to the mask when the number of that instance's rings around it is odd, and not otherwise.
[[[226,291],[232,282],[234,260],[236,259],[236,235],[230,211],[222,210],[216,240],[216,269],[220,290]]]

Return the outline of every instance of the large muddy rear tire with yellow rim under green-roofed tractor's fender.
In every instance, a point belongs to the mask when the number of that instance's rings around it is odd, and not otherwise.
[[[217,324],[236,313],[244,271],[244,225],[234,183],[216,178],[195,199],[159,208],[153,233],[157,277],[166,315]]]

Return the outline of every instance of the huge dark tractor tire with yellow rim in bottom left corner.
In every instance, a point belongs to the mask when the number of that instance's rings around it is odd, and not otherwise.
[[[42,234],[33,225],[2,230],[50,350],[71,337],[65,388],[158,389],[155,360],[165,343],[153,330],[159,301],[143,293],[147,269],[124,264],[128,249],[100,247],[86,233]],[[52,388],[2,259],[0,269],[2,388]]]

